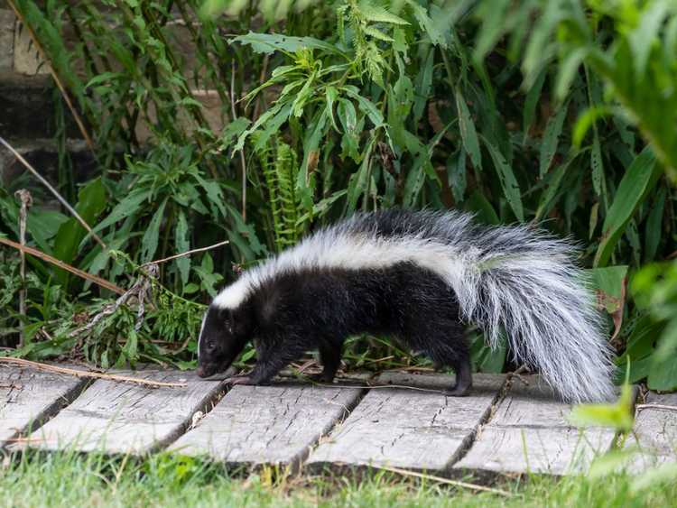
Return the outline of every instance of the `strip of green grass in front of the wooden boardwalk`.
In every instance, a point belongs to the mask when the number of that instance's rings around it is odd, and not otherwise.
[[[379,473],[285,476],[272,469],[228,473],[190,458],[145,460],[70,453],[5,457],[3,506],[674,506],[670,482],[632,492],[634,478],[506,480],[510,497],[474,493],[431,480]]]

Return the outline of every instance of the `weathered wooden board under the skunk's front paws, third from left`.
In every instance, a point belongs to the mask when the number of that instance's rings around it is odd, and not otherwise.
[[[296,466],[362,393],[287,382],[236,386],[171,449],[228,465]]]

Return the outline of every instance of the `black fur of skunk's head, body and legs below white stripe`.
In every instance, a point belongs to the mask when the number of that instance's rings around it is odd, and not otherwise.
[[[468,392],[470,360],[456,296],[438,275],[413,263],[378,270],[278,273],[237,309],[211,306],[198,374],[225,370],[251,338],[257,363],[234,383],[269,383],[285,365],[313,349],[320,351],[324,365],[319,378],[329,383],[343,342],[360,333],[395,337],[430,356],[435,365],[452,367],[457,383],[450,394]]]

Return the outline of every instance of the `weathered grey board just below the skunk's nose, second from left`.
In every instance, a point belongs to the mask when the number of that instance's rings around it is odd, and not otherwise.
[[[200,380],[192,372],[144,370],[116,374],[187,384],[154,388],[99,379],[33,432],[28,446],[110,454],[151,452],[178,438],[193,414],[203,411],[223,389],[223,382]]]

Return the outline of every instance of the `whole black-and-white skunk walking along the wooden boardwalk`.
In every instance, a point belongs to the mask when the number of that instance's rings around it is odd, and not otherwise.
[[[464,335],[538,369],[567,402],[613,397],[600,317],[575,247],[530,226],[481,226],[457,211],[357,214],[306,237],[220,291],[199,333],[198,375],[225,370],[254,340],[257,363],[229,383],[264,384],[318,349],[331,382],[350,335],[394,337],[472,385]]]

